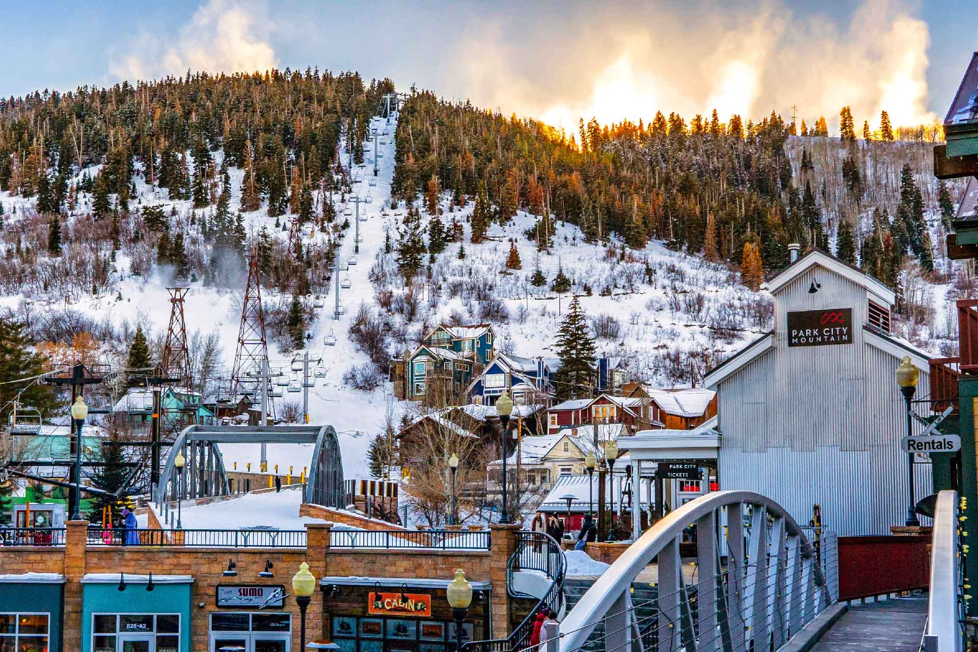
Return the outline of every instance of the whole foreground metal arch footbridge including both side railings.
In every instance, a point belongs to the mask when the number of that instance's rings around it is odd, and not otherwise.
[[[880,628],[880,619],[887,618],[885,607],[868,615],[874,630],[860,630],[859,617],[846,623],[849,614],[862,612],[854,606],[847,613],[838,604],[834,534],[823,532],[819,541],[809,541],[807,528],[799,527],[774,500],[722,491],[689,501],[648,529],[562,622],[545,623],[541,649],[533,652],[821,651],[838,649],[833,635],[854,652],[960,652],[965,585],[958,519],[963,508],[955,492],[940,493],[930,592],[922,610],[926,616],[920,614],[916,621],[922,630],[895,627],[897,623]],[[680,556],[690,527],[696,533],[692,567]],[[655,596],[635,603],[632,582],[647,572],[653,559]],[[865,613],[862,618],[866,623]],[[879,630],[893,644],[881,645]]]

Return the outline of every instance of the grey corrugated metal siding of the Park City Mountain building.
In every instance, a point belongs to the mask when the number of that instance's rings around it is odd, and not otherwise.
[[[809,293],[814,281],[822,287]],[[904,522],[900,361],[866,342],[867,298],[867,288],[821,267],[778,291],[775,348],[717,386],[722,489],[764,494],[799,522],[819,502],[825,524],[840,536],[888,534]],[[852,308],[853,343],[789,348],[786,313],[825,308]],[[928,369],[920,371],[918,397],[930,382]],[[931,491],[930,465],[915,468],[919,500]]]

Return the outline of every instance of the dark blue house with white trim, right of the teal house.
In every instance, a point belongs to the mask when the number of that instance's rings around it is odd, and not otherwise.
[[[516,405],[550,405],[554,399],[551,378],[560,361],[556,358],[520,358],[501,353],[468,384],[468,403],[496,405],[503,392],[510,392]]]

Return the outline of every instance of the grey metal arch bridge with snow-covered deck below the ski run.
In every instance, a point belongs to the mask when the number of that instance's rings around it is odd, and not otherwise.
[[[227,496],[230,492],[224,457],[218,444],[315,444],[303,502],[336,507],[342,500],[343,463],[332,425],[220,426],[191,425],[170,446],[154,487],[154,501]],[[186,463],[177,473],[174,460],[183,452]]]

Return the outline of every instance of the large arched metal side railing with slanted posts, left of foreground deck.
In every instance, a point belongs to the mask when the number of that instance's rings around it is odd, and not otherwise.
[[[683,559],[680,544],[690,527],[696,556]],[[831,533],[822,530],[817,548],[774,500],[707,494],[633,543],[555,626],[558,638],[547,648],[777,650],[837,600],[837,555]],[[652,562],[657,595],[637,604],[632,582]]]

